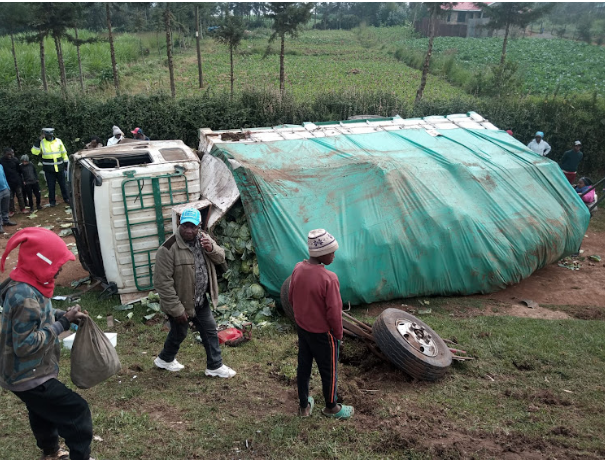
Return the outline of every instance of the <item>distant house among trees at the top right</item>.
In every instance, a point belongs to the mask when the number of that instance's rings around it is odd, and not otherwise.
[[[453,6],[443,5],[444,14],[437,19],[435,35],[437,37],[480,37],[485,32],[479,27],[489,21],[489,6],[495,2],[484,2],[479,6],[473,2],[458,2]],[[423,18],[414,24],[416,32],[429,35],[429,18]]]

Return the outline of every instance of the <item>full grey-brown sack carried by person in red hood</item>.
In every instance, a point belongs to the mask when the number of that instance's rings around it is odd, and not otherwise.
[[[71,348],[71,381],[79,388],[94,387],[121,368],[116,349],[99,326],[85,316]]]

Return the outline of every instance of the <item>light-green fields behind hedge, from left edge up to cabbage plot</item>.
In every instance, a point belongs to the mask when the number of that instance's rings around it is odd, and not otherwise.
[[[279,88],[279,42],[263,58],[271,34],[269,29],[247,34],[234,56],[235,92],[245,88]],[[85,33],[81,33],[86,36]],[[286,90],[296,98],[308,99],[330,91],[387,91],[413,100],[420,83],[420,72],[407,67],[386,52],[396,38],[409,37],[409,29],[363,28],[354,31],[305,31],[298,38],[286,39]],[[130,94],[169,92],[166,43],[163,34],[117,35],[116,50],[123,90]],[[15,88],[10,40],[0,41],[0,87]],[[181,45],[185,44],[185,45]],[[17,42],[17,59],[26,86],[40,86],[37,44]],[[89,92],[113,95],[109,44],[83,45],[83,71]],[[177,95],[199,92],[195,41],[175,36],[175,79]],[[75,47],[64,44],[70,87],[77,91]],[[54,44],[46,43],[47,72],[51,87],[58,87],[58,68]],[[229,90],[229,54],[226,46],[211,37],[202,40],[204,90]],[[429,76],[425,95],[449,99],[463,91],[444,79]]]

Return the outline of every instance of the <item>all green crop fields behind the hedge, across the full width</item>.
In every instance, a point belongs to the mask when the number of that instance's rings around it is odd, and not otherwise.
[[[270,29],[255,29],[242,41],[235,55],[235,89],[276,89],[279,86],[279,44],[272,44],[266,58]],[[82,37],[92,34],[82,31]],[[104,36],[99,36],[104,39]],[[195,41],[175,35],[177,95],[199,92]],[[0,39],[0,86],[16,87],[13,59],[8,37]],[[340,90],[387,91],[412,100],[419,85],[420,72],[394,58],[397,49],[424,52],[427,39],[415,39],[408,27],[362,27],[351,31],[308,30],[298,38],[286,40],[286,89],[300,99],[318,92]],[[37,44],[17,41],[17,59],[26,87],[40,87]],[[435,57],[454,57],[466,71],[482,71],[497,64],[501,38],[463,39],[438,37]],[[88,92],[112,96],[113,77],[107,42],[82,46],[84,77]],[[116,51],[121,83],[127,93],[168,93],[169,76],[164,35],[160,33],[117,34]],[[72,92],[78,92],[78,68],[75,47],[64,44],[68,78]],[[54,43],[46,41],[47,72],[51,88],[58,86]],[[605,81],[601,69],[605,49],[565,39],[511,39],[508,58],[519,64],[525,92],[561,95],[603,94]],[[202,91],[229,89],[229,56],[225,46],[211,37],[202,40],[205,88]],[[429,76],[426,96],[449,99],[463,94],[444,79]]]

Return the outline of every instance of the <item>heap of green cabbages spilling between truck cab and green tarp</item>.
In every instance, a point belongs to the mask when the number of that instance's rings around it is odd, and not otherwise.
[[[228,266],[218,279],[220,294],[218,305],[213,308],[217,325],[237,328],[244,322],[268,325],[277,315],[275,301],[259,283],[258,262],[241,202],[214,226],[212,235],[225,250]]]

